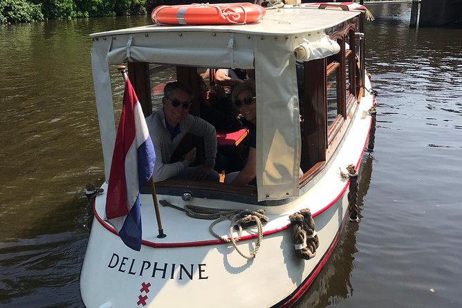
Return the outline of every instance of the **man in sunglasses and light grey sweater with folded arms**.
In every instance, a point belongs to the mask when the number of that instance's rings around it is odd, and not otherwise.
[[[156,151],[154,182],[175,177],[180,179],[219,181],[219,174],[213,170],[216,157],[216,131],[205,120],[190,115],[192,90],[185,84],[172,81],[165,85],[162,110],[146,119]],[[171,161],[172,155],[187,133],[203,137],[205,162],[190,167],[196,160],[196,148],[186,153],[183,160]]]

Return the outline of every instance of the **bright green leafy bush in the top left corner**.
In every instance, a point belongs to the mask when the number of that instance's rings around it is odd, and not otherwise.
[[[39,4],[26,0],[0,0],[0,23],[26,23],[43,19]]]

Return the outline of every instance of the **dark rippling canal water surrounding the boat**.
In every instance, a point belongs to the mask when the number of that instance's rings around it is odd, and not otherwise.
[[[296,306],[462,307],[462,30],[409,29],[410,3],[369,9],[362,220]],[[89,33],[145,23],[0,26],[0,307],[83,307],[83,189],[104,177]]]

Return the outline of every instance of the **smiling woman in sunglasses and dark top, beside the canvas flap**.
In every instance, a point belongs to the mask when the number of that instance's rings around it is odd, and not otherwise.
[[[248,122],[250,139],[247,161],[239,172],[232,172],[226,175],[225,183],[233,185],[255,185],[257,175],[257,97],[255,92],[255,81],[247,79],[238,84],[231,94],[232,102],[239,108],[239,112]]]

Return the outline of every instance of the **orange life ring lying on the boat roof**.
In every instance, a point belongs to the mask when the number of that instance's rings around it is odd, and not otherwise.
[[[158,6],[151,13],[156,24],[164,25],[228,25],[253,23],[263,18],[265,9],[252,3],[188,4]]]

